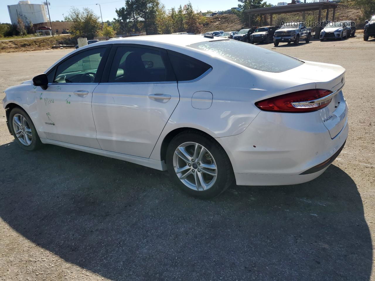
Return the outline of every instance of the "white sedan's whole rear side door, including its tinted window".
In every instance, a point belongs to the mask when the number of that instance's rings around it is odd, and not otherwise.
[[[102,149],[149,157],[180,99],[166,51],[116,44],[92,111]]]

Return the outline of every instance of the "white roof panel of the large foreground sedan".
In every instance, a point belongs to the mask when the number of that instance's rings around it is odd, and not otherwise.
[[[167,45],[175,46],[187,46],[194,43],[204,42],[204,41],[214,41],[214,40],[223,40],[220,38],[204,37],[201,35],[191,35],[186,36],[184,34],[161,34],[161,35],[145,35],[145,36],[135,36],[135,37],[126,37],[118,38],[116,40],[107,40],[99,41],[98,44],[113,44],[113,43],[123,43],[123,44],[132,44],[135,42],[144,42],[144,43],[165,43]],[[108,42],[109,41],[109,42]]]

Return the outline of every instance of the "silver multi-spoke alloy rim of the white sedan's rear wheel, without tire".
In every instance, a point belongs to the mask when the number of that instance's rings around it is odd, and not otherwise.
[[[193,190],[207,190],[217,178],[217,166],[212,154],[196,142],[185,142],[176,148],[173,167],[178,179]]]

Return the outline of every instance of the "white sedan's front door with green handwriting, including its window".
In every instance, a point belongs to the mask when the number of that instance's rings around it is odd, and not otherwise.
[[[85,49],[47,74],[48,88],[37,92],[41,130],[47,139],[100,149],[91,103],[109,51],[110,45]]]

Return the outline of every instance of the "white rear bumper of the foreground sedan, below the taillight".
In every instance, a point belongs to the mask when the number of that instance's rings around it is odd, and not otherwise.
[[[334,138],[317,112],[296,117],[295,113],[261,111],[243,133],[217,138],[231,160],[238,185],[311,181],[335,160],[348,136],[347,116]]]

